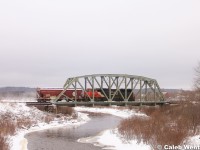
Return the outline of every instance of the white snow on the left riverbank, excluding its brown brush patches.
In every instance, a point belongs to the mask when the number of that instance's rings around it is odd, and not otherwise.
[[[24,103],[0,103],[0,115],[4,116],[9,114],[11,120],[29,118],[33,125],[30,128],[23,127],[18,129],[14,136],[8,137],[10,150],[26,150],[28,141],[24,138],[24,135],[33,131],[44,130],[55,127],[77,127],[90,120],[87,114],[77,113],[77,118],[61,116],[53,119],[49,123],[45,123],[45,117],[49,114],[42,112],[34,107],[27,107]],[[51,116],[50,116],[51,117]]]

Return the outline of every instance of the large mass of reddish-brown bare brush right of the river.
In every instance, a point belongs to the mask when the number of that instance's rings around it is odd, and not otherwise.
[[[123,120],[119,132],[127,140],[137,139],[155,148],[156,145],[179,145],[188,135],[199,133],[200,105],[143,108],[149,118]]]

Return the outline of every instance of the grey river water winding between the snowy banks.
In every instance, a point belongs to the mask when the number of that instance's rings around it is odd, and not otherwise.
[[[91,120],[78,127],[58,127],[28,133],[28,150],[100,150],[93,144],[77,142],[84,137],[117,127],[121,118],[113,115],[90,116]]]

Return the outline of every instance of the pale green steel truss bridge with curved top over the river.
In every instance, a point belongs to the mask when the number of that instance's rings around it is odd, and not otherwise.
[[[58,102],[61,97],[71,99],[65,95],[68,89],[74,89],[72,101]],[[80,89],[86,94],[88,101],[78,100],[77,90]],[[92,91],[92,95],[87,94],[88,89]],[[97,89],[104,95],[104,101],[99,101],[95,97],[94,93]],[[117,100],[116,97],[118,97]],[[165,101],[155,79],[127,74],[93,74],[68,78],[63,91],[52,103],[56,105],[135,105],[163,104]]]

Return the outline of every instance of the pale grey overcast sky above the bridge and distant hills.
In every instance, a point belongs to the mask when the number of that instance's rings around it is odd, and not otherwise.
[[[131,74],[192,87],[199,0],[0,0],[0,86]]]

